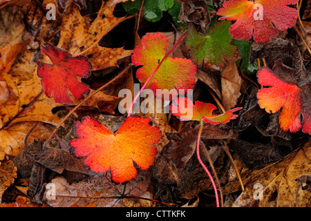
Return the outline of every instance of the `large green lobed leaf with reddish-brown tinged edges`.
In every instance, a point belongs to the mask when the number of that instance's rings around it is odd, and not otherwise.
[[[216,23],[208,35],[201,35],[194,28],[189,28],[186,45],[190,49],[191,59],[201,66],[218,66],[223,68],[226,61],[236,61],[238,50],[232,46],[229,33],[230,21]]]

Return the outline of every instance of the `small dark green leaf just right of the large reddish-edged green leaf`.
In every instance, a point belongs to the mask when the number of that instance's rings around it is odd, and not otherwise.
[[[258,70],[257,61],[255,61],[254,64],[249,63],[249,53],[252,46],[252,42],[233,39],[232,44],[238,47],[238,55],[242,57],[242,59],[239,59],[236,62],[237,65],[239,65],[242,60],[241,68],[243,73],[247,73],[249,75],[256,73],[256,71]]]

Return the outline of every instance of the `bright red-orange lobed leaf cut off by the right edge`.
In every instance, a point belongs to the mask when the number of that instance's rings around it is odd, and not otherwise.
[[[294,73],[294,69],[283,65],[281,60],[276,61],[273,71],[266,67],[258,71],[259,84],[270,86],[258,90],[258,104],[267,113],[276,113],[282,108],[279,122],[283,131],[299,131],[302,115],[302,131],[311,135],[310,83],[299,85]]]

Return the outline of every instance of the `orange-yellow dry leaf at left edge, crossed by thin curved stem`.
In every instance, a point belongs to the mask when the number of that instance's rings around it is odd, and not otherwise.
[[[0,160],[5,155],[16,156],[24,146],[25,137],[36,122],[20,122],[8,128],[0,130]],[[28,137],[27,143],[30,144],[34,140],[45,140],[52,133],[52,128],[39,123],[34,131]]]

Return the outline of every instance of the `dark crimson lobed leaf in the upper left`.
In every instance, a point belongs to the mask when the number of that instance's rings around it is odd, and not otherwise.
[[[38,61],[37,73],[41,77],[41,84],[48,97],[54,94],[55,102],[60,104],[73,104],[68,90],[77,99],[83,99],[90,89],[80,82],[77,77],[90,77],[92,64],[87,57],[73,57],[66,50],[45,43],[41,46],[53,64]]]

